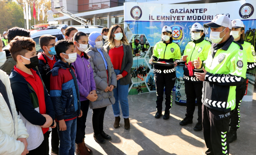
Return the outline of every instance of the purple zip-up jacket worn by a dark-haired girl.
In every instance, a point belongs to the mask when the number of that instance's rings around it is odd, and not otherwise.
[[[86,97],[92,90],[96,90],[96,84],[93,76],[93,68],[90,65],[90,59],[76,54],[76,61],[72,63],[75,68],[77,84],[80,93],[80,101],[88,100]]]

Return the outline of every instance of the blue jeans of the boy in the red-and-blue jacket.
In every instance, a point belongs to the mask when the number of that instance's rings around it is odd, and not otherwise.
[[[57,123],[59,134],[59,155],[74,155],[75,139],[76,139],[76,118],[66,121],[67,130],[59,131],[59,123]]]

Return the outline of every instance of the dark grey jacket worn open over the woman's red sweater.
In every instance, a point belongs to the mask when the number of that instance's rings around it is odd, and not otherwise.
[[[120,70],[120,74],[125,70],[128,74],[120,79],[121,85],[128,85],[129,83],[132,83],[131,78],[131,68],[133,64],[133,58],[132,58],[132,48],[130,45],[124,45],[124,57],[122,59],[122,66]],[[104,50],[109,53],[109,46],[104,46]]]

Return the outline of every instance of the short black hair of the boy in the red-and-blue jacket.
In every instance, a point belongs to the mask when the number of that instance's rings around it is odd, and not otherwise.
[[[59,40],[55,44],[55,51],[59,59],[61,59],[61,56],[59,54],[66,53],[66,51],[69,49],[70,45],[74,46],[74,43],[72,40]]]

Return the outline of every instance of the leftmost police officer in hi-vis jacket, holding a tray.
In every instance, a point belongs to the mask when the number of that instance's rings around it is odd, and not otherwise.
[[[180,64],[180,47],[173,43],[171,27],[164,26],[162,29],[162,41],[159,41],[154,46],[151,61],[165,61],[174,63],[174,67]],[[165,87],[165,114],[163,119],[169,119],[170,109],[173,101],[173,87],[176,80],[175,68],[171,66],[154,65],[154,80],[156,82],[156,115],[155,118],[160,118],[162,115],[163,89]]]

